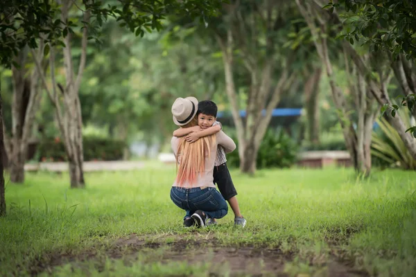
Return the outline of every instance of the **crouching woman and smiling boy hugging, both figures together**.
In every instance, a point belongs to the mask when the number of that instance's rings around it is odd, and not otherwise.
[[[177,98],[172,105],[173,123],[180,129],[171,140],[177,162],[171,199],[186,212],[185,227],[217,224],[216,219],[227,215],[226,200],[234,212],[234,224],[244,227],[246,223],[225,157],[236,144],[222,131],[217,111],[214,102],[198,103],[194,97]]]

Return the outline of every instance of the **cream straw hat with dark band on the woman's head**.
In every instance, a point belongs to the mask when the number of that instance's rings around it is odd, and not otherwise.
[[[198,100],[195,97],[176,98],[172,105],[173,123],[187,125],[198,111]]]

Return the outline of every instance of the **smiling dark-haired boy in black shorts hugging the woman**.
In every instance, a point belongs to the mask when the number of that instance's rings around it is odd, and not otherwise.
[[[188,142],[194,142],[202,136],[209,136],[220,132],[222,129],[221,123],[216,120],[218,107],[210,101],[204,100],[198,103],[198,126],[190,128],[180,128],[173,132],[173,136],[186,136]],[[217,184],[218,190],[224,199],[228,201],[234,212],[234,225],[245,226],[246,220],[241,215],[239,202],[237,202],[237,191],[229,175],[227,168],[227,159],[222,146],[218,145],[216,159],[214,163],[214,183]],[[216,224],[216,220],[209,219],[207,225]]]

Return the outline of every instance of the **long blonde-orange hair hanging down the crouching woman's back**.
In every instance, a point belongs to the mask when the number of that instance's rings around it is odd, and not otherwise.
[[[198,116],[195,116],[190,123],[182,126],[182,128],[196,125],[198,125]],[[184,137],[180,138],[176,157],[176,182],[179,186],[185,182],[195,184],[198,174],[205,170],[205,156],[208,155],[209,157],[215,139],[216,136],[214,135],[204,136],[194,143],[189,143]]]

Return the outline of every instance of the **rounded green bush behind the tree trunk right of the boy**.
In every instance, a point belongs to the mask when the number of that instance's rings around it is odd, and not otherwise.
[[[257,154],[257,168],[289,168],[296,162],[297,150],[295,141],[282,129],[268,129]],[[240,166],[238,150],[227,154],[227,164],[230,167]]]

